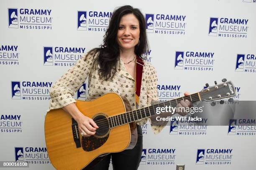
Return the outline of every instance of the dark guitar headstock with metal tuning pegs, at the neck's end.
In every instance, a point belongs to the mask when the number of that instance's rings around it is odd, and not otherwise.
[[[236,90],[231,81],[226,79],[222,80],[223,83],[217,84],[215,81],[215,86],[209,86],[206,84],[207,88],[202,89],[199,92],[202,101],[212,101],[223,98],[229,98],[236,95]]]

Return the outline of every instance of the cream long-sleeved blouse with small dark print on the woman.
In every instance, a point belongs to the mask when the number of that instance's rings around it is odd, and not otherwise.
[[[76,102],[72,96],[82,86],[87,77],[89,78],[87,100],[93,100],[103,94],[114,92],[125,96],[130,102],[132,109],[136,109],[135,81],[126,71],[123,61],[119,60],[118,71],[112,80],[102,81],[98,74],[98,68],[100,66],[97,65],[97,69],[93,68],[95,58],[97,58],[97,54],[94,54],[94,52],[87,53],[87,55],[84,54],[67,73],[56,81],[50,90],[51,101],[49,110],[59,109]],[[139,108],[150,106],[151,100],[158,100],[156,69],[151,63],[144,61]],[[143,125],[147,121],[147,118],[145,118],[136,121],[136,123]],[[164,125],[154,126],[151,124],[151,127],[154,133],[157,134],[163,129]]]

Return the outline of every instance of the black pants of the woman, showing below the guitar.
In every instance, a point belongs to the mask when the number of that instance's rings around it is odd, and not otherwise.
[[[142,152],[142,130],[137,125],[138,140],[132,150],[124,150],[122,152],[111,153],[103,160],[97,163],[90,170],[108,170],[110,158],[112,157],[113,170],[137,170],[141,162]]]

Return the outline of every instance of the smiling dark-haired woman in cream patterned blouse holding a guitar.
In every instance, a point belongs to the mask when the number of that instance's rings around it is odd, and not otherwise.
[[[50,109],[63,108],[77,121],[79,131],[84,137],[94,135],[98,128],[97,124],[77,109],[72,95],[88,77],[87,100],[115,92],[125,96],[132,109],[136,109],[134,94],[136,56],[142,57],[147,50],[146,22],[143,14],[128,5],[118,8],[113,12],[103,45],[84,55],[52,86]],[[151,104],[151,100],[158,100],[156,87],[156,70],[151,63],[145,61],[139,107],[146,107]],[[138,169],[142,152],[141,125],[146,122],[147,119],[136,122],[138,141],[132,150],[109,154],[92,169],[108,170],[111,156],[114,170]],[[163,125],[152,126],[155,133],[160,132],[162,128]]]

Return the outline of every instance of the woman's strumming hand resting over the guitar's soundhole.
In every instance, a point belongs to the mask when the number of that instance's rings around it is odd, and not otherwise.
[[[96,133],[96,129],[99,128],[90,117],[84,116],[84,114],[80,114],[76,121],[79,131],[84,137],[94,135]]]

